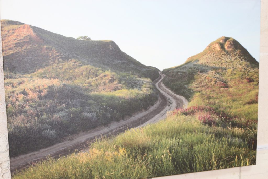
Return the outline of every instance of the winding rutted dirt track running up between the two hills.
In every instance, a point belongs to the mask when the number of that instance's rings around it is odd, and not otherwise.
[[[101,136],[116,136],[125,130],[155,123],[158,120],[166,118],[168,111],[187,107],[188,101],[183,96],[174,94],[162,83],[164,76],[165,75],[159,72],[159,78],[155,83],[155,86],[159,90],[159,99],[154,106],[146,111],[138,112],[126,120],[113,122],[107,126],[97,127],[86,133],[75,135],[72,140],[64,141],[29,154],[10,158],[11,173],[34,165],[34,163],[40,160],[46,160],[47,156],[59,158],[60,156],[68,155],[75,151],[82,151],[88,148],[89,144],[94,142],[96,138]]]

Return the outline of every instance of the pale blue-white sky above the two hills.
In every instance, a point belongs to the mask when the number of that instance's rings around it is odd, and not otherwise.
[[[183,64],[221,36],[235,38],[259,61],[260,0],[0,0],[0,19],[113,40],[159,70]]]

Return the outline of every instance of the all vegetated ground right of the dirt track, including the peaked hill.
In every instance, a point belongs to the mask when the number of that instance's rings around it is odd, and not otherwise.
[[[232,38],[218,39],[163,71],[188,108],[14,178],[151,178],[256,164],[258,62],[246,52]]]

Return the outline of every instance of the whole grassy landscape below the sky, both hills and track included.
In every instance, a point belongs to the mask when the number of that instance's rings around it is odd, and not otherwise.
[[[256,164],[259,63],[235,39],[222,36],[159,72],[110,40],[11,20],[1,20],[1,33],[13,178],[151,178]]]

